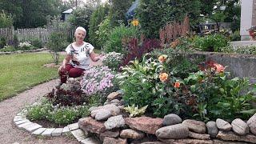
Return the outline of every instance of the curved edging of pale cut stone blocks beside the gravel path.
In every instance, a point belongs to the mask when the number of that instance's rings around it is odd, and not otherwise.
[[[26,110],[22,110],[23,112],[18,113],[14,117],[14,125],[19,129],[26,130],[32,135],[36,136],[45,136],[45,137],[57,137],[65,134],[73,134],[74,138],[81,143],[97,143],[94,142],[93,138],[87,138],[87,134],[81,129],[79,129],[78,122],[72,123],[70,125],[65,126],[64,128],[44,128],[38,123],[30,122],[26,118]]]

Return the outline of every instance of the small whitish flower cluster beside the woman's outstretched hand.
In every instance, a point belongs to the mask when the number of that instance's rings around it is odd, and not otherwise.
[[[122,58],[123,58],[123,54],[110,52],[105,55],[102,62],[105,66],[108,66],[111,70],[118,70],[118,67],[122,62]]]

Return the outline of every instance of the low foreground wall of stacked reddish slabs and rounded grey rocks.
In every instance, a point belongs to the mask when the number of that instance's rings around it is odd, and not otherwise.
[[[182,121],[176,114],[164,118],[128,118],[120,92],[111,93],[107,99],[104,106],[90,108],[90,117],[78,121],[80,129],[96,135],[103,144],[256,143],[256,114],[247,122],[236,118],[231,123],[220,118],[207,123],[193,119]]]

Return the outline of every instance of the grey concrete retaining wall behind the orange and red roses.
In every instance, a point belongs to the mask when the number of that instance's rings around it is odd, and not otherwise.
[[[215,52],[194,52],[192,58],[206,58],[227,66],[232,77],[249,78],[256,83],[256,56],[248,54],[222,54]]]

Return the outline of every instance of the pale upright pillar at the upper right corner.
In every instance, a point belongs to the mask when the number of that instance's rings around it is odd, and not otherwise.
[[[240,35],[241,40],[250,40],[249,32],[251,26],[256,26],[256,0],[242,0],[241,2],[241,25],[240,25]]]

